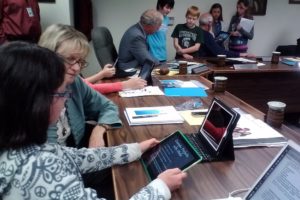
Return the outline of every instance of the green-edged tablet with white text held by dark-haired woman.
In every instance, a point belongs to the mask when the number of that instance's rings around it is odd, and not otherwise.
[[[147,150],[142,155],[141,162],[149,179],[154,180],[166,169],[180,168],[186,171],[201,159],[186,136],[176,131]]]

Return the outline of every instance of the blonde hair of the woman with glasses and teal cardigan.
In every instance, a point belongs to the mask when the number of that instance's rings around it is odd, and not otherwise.
[[[82,58],[88,55],[90,49],[88,40],[83,33],[72,26],[63,24],[48,26],[42,33],[38,44],[54,52],[57,52],[60,48],[64,52],[77,49],[80,51]]]

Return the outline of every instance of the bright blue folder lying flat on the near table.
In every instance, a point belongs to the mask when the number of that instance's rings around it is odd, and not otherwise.
[[[172,97],[207,97],[205,90],[201,87],[196,88],[165,88],[166,96]]]

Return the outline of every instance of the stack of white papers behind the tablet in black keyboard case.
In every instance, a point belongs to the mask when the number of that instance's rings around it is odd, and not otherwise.
[[[286,141],[283,135],[250,114],[241,114],[237,126],[233,131],[233,144],[235,148],[282,146]]]

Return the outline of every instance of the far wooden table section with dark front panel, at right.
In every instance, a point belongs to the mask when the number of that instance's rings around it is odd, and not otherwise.
[[[282,63],[266,65],[257,69],[234,69],[233,66],[217,67],[208,64],[214,76],[228,77],[227,91],[246,101],[260,111],[267,112],[268,101],[287,104],[286,113],[300,116],[300,68]]]

